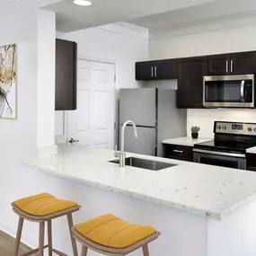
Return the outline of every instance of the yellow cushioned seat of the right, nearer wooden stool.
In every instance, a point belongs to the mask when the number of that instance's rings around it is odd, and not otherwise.
[[[85,238],[111,248],[126,248],[155,234],[147,225],[132,225],[113,215],[104,215],[75,225],[75,230]]]

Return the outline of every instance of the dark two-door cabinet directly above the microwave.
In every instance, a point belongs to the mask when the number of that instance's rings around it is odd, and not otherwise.
[[[207,57],[207,75],[249,75],[255,73],[255,51]]]

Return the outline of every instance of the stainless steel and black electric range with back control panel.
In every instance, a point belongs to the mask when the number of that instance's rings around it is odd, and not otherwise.
[[[246,149],[256,146],[256,123],[216,121],[214,140],[195,144],[196,163],[246,170]]]

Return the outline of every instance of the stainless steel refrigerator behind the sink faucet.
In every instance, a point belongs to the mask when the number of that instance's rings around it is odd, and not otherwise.
[[[119,137],[127,120],[136,123],[138,137],[134,137],[131,126],[126,128],[126,152],[163,156],[163,139],[186,136],[187,110],[177,109],[175,90],[121,89]]]

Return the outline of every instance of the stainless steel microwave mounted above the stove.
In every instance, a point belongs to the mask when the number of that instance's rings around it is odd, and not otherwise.
[[[254,100],[254,75],[204,77],[204,107],[254,108]]]

